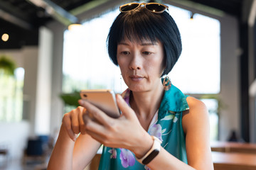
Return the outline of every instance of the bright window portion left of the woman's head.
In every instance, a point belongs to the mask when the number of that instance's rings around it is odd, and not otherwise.
[[[107,54],[108,30],[119,11],[106,13],[82,24],[82,28],[65,31],[63,55],[63,91],[80,89],[126,89],[121,72]],[[122,84],[122,85],[121,85]]]

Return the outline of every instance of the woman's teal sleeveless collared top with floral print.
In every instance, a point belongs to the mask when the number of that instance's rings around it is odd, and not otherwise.
[[[124,100],[129,104],[130,90],[122,94]],[[182,113],[188,110],[186,96],[171,84],[171,88],[165,91],[159,111],[149,125],[149,135],[154,135],[162,141],[161,147],[166,149],[177,159],[187,162],[186,141],[182,128]],[[134,154],[128,149],[103,147],[100,159],[100,170],[122,170],[122,169],[146,169],[146,165],[137,162]]]

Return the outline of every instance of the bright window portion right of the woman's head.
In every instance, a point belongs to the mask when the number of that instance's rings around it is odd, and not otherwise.
[[[188,94],[220,92],[220,22],[214,18],[171,7],[181,32],[181,57],[169,74],[173,84]],[[188,71],[189,70],[189,71]]]

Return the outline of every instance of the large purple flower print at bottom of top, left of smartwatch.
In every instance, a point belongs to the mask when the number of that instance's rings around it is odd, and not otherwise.
[[[127,168],[128,166],[133,166],[135,163],[135,157],[134,154],[132,154],[131,151],[129,151],[128,149],[121,149],[121,153],[120,153],[120,159],[121,159],[121,163],[122,166],[124,168]]]

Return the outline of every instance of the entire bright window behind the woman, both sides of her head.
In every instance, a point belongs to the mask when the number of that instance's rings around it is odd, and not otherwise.
[[[181,57],[168,75],[172,83],[192,96],[218,94],[220,22],[197,13],[193,15],[191,21],[190,11],[174,6],[169,6],[169,11],[178,25],[183,42]],[[121,93],[127,88],[122,81],[119,68],[112,64],[106,49],[107,34],[118,13],[117,8],[83,23],[83,27],[78,30],[65,31],[64,93],[98,88],[114,89],[115,92]],[[212,103],[209,101],[205,103],[209,109],[212,109]],[[217,113],[215,115],[218,116]],[[211,123],[214,124],[213,127],[218,127],[218,118]],[[212,138],[216,140],[217,137],[218,133]]]

